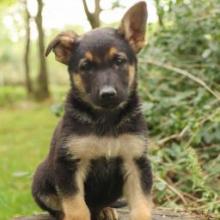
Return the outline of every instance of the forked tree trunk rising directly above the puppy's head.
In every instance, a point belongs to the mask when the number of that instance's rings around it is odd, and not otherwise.
[[[86,0],[83,0],[83,7],[87,16],[87,19],[91,25],[91,27],[97,28],[100,27],[100,13],[102,11],[101,7],[100,7],[100,0],[94,0],[95,1],[95,11],[93,13],[91,13],[89,11],[88,5]]]

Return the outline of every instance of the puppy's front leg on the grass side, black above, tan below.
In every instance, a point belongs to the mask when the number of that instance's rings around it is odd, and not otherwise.
[[[72,160],[67,155],[59,155],[56,160],[55,177],[63,220],[90,220],[90,212],[84,200],[87,165],[87,162]]]

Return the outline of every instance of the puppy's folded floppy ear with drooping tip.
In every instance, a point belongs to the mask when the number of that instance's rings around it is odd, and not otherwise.
[[[53,50],[56,60],[67,65],[77,39],[78,35],[72,31],[61,32],[50,42],[45,55]]]

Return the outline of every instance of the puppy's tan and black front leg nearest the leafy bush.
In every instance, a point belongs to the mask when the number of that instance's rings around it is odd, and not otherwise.
[[[142,156],[125,162],[124,196],[131,220],[151,220],[152,173],[148,159]]]

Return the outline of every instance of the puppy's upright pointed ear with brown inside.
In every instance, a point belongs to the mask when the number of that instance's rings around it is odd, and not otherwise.
[[[141,1],[125,13],[118,29],[136,53],[144,47],[146,22],[147,5]]]

